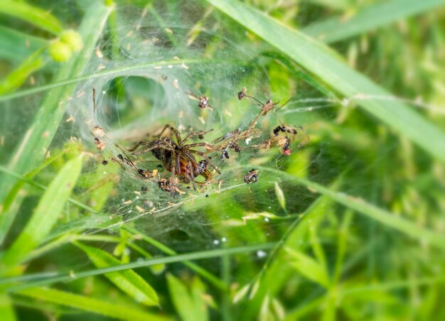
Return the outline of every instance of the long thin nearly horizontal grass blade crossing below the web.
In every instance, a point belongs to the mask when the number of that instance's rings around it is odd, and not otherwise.
[[[132,263],[120,264],[119,266],[109,266],[107,268],[97,268],[94,270],[83,271],[78,273],[61,273],[57,276],[48,277],[47,273],[35,273],[33,276],[17,276],[17,277],[9,277],[9,278],[0,278],[0,284],[8,284],[8,283],[16,283],[19,281],[26,280],[37,280],[30,283],[23,283],[19,285],[11,285],[5,288],[7,291],[14,292],[16,290],[21,290],[23,288],[33,288],[41,285],[48,285],[56,282],[69,282],[78,280],[80,278],[86,278],[87,276],[99,276],[104,273],[112,273],[118,271],[128,270],[130,268],[144,268],[147,266],[154,266],[157,264],[167,264],[167,263],[175,263],[175,262],[183,262],[188,260],[200,260],[200,259],[212,259],[216,257],[220,257],[223,255],[234,255],[234,254],[249,254],[252,252],[256,252],[259,250],[267,250],[272,249],[276,244],[274,243],[266,243],[266,244],[256,244],[250,246],[240,246],[234,247],[231,249],[218,249],[218,250],[210,250],[210,251],[198,251],[188,254],[179,254],[176,256],[166,256],[156,259],[148,259],[144,261],[137,261]],[[3,287],[4,288],[4,287]]]

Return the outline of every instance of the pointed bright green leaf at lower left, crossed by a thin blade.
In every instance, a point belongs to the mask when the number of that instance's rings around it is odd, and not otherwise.
[[[120,261],[106,251],[80,243],[75,244],[87,254],[97,268],[120,265]],[[159,305],[159,298],[156,291],[133,270],[129,269],[126,271],[105,273],[105,276],[109,281],[114,283],[117,288],[127,293],[137,302],[144,303],[145,305]]]

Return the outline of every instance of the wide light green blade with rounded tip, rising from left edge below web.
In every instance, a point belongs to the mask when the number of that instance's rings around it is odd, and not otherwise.
[[[1,258],[3,268],[11,268],[23,261],[50,232],[73,190],[81,169],[82,158],[79,156],[70,160],[60,170],[38,202],[26,227]]]

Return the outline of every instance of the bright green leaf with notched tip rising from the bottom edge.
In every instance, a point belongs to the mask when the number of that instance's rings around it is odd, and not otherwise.
[[[208,320],[207,307],[203,301],[203,289],[192,285],[192,293],[190,293],[187,286],[171,273],[167,274],[167,282],[173,304],[181,320]]]

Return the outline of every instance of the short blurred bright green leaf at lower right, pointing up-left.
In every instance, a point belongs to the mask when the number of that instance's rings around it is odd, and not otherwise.
[[[323,285],[325,288],[329,287],[330,281],[328,273],[320,263],[301,251],[295,251],[289,247],[285,247],[284,249],[291,255],[289,263],[291,266],[294,266],[302,276]]]

